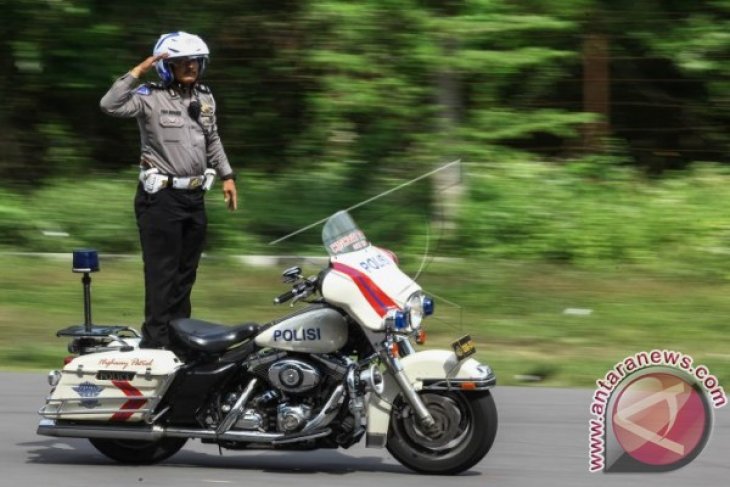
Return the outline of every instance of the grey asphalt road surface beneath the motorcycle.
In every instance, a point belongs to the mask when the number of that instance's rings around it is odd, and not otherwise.
[[[49,387],[43,374],[0,373],[0,486],[128,487],[325,486],[725,486],[730,485],[730,407],[715,410],[709,443],[690,465],[660,474],[588,472],[592,391],[498,387],[500,415],[492,451],[472,470],[428,477],[400,466],[387,450],[356,446],[314,452],[236,452],[190,441],[154,466],[121,466],[83,439],[37,436]],[[730,385],[727,385],[730,387]]]

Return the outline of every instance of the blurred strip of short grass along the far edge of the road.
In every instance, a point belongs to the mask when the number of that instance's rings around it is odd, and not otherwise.
[[[66,342],[55,331],[83,323],[80,276],[70,259],[0,256],[0,363],[5,368],[58,367]],[[92,279],[93,321],[139,327],[139,258],[104,258]],[[282,266],[282,268],[285,266]],[[417,265],[405,262],[404,268]],[[305,264],[305,273],[319,269]],[[288,313],[272,305],[287,289],[279,268],[247,267],[205,258],[193,292],[194,316],[235,324],[266,322]],[[409,272],[412,274],[412,272]],[[437,296],[425,322],[426,347],[447,347],[469,333],[477,358],[499,383],[527,376],[549,386],[592,386],[628,355],[672,349],[704,363],[730,384],[730,283],[673,276],[637,267],[569,266],[534,262],[431,264],[419,279]],[[566,310],[578,310],[572,313]],[[730,386],[729,386],[730,387]]]

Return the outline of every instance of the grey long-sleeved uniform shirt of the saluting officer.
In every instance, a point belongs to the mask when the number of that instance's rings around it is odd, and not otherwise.
[[[201,105],[200,123],[188,114],[194,99]],[[152,83],[140,85],[127,73],[109,88],[100,106],[115,117],[137,118],[146,166],[172,176],[199,176],[208,166],[221,177],[233,172],[218,136],[215,100],[204,85],[181,94]]]

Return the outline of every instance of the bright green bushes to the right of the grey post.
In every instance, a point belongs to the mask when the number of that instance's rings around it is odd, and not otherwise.
[[[722,166],[647,180],[615,160],[510,161],[470,169],[460,252],[614,262],[728,275],[730,181]]]

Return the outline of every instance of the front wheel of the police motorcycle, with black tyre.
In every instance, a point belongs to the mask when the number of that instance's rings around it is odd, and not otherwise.
[[[410,405],[397,402],[387,442],[396,460],[416,472],[452,475],[484,458],[497,434],[497,408],[489,391],[422,392],[420,396],[436,420],[438,433],[423,432]]]

